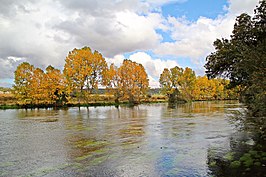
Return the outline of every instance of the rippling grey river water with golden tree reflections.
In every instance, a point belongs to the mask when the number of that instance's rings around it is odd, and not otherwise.
[[[210,176],[236,101],[0,110],[0,176]]]

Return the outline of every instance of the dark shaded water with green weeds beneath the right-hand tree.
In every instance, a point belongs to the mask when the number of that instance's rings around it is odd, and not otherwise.
[[[208,166],[214,176],[266,176],[266,120],[249,117],[244,109],[231,109],[228,121],[236,127],[230,149],[208,149]]]

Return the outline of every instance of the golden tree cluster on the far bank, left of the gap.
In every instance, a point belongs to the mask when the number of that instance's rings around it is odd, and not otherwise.
[[[55,104],[72,95],[89,102],[89,95],[99,86],[130,102],[140,101],[148,91],[148,76],[141,64],[124,60],[118,68],[108,67],[103,56],[89,47],[74,49],[65,60],[63,73],[52,66],[45,71],[28,62],[15,71],[14,93],[23,104]]]

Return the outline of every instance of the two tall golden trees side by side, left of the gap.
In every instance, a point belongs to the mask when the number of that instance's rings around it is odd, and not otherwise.
[[[139,101],[149,86],[148,76],[141,64],[124,60],[117,68],[114,64],[110,67],[103,56],[92,52],[89,47],[74,49],[66,58],[64,67],[68,93],[77,92],[79,98],[85,98],[99,85],[104,86],[115,95],[115,101],[120,98],[130,102]]]

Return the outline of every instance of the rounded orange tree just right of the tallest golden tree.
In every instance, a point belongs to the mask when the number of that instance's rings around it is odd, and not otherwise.
[[[130,103],[140,101],[149,87],[148,75],[144,67],[131,60],[124,60],[117,72],[118,91]]]

